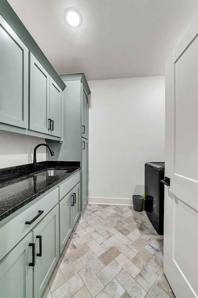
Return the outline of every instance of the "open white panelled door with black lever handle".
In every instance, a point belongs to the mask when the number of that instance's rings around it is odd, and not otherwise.
[[[177,298],[198,297],[198,20],[166,62],[164,273]]]

